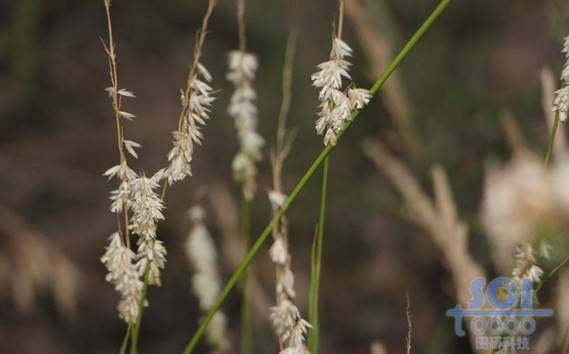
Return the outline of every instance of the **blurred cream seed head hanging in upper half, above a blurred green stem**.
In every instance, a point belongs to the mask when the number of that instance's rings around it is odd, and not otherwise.
[[[235,128],[240,150],[233,159],[233,175],[242,185],[243,195],[253,199],[257,189],[256,163],[262,159],[261,148],[264,139],[257,132],[257,94],[252,86],[257,70],[257,58],[251,53],[232,51],[229,53],[229,73],[227,79],[235,86],[231,96],[228,113],[235,119]]]

